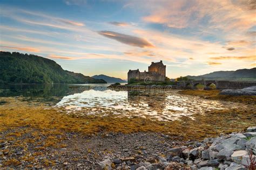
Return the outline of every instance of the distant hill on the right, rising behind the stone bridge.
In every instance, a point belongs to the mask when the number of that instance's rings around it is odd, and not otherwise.
[[[193,80],[254,80],[256,79],[256,67],[251,69],[238,69],[235,71],[219,71],[199,76],[186,76]]]

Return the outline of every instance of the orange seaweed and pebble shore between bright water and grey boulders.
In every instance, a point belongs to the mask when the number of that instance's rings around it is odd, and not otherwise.
[[[1,99],[7,102],[0,105],[1,168],[90,169],[102,168],[98,163],[106,160],[111,161],[109,169],[151,165],[186,169],[183,160],[167,161],[167,151],[189,145],[196,148],[197,141],[228,136],[256,124],[253,105],[247,110],[214,110],[194,114],[194,119],[184,116],[164,122],[136,116],[67,115],[61,108],[33,105],[19,97]]]

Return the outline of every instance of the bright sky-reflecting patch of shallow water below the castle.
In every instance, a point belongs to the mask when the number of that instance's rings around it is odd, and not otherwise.
[[[69,112],[80,115],[140,116],[161,121],[174,120],[181,116],[204,114],[213,109],[245,108],[246,105],[232,102],[206,100],[198,96],[186,96],[169,91],[114,91],[85,90],[79,94],[63,97],[56,104]],[[193,118],[193,117],[192,117]]]

